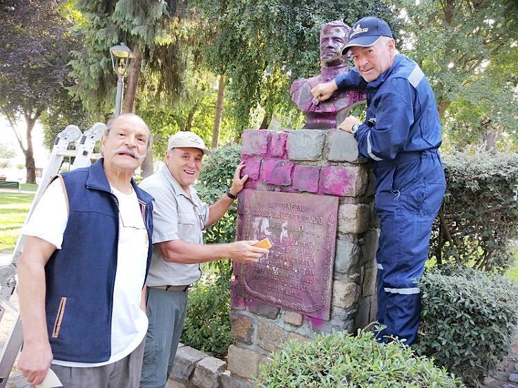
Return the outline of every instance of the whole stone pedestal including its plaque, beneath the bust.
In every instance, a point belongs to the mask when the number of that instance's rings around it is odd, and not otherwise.
[[[269,254],[234,266],[228,370],[249,380],[271,351],[315,333],[354,331],[376,316],[374,179],[343,130],[245,130],[238,239],[268,237]]]

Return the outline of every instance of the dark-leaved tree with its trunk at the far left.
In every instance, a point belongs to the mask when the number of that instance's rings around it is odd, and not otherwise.
[[[73,84],[67,64],[77,37],[54,0],[4,0],[0,13],[0,113],[25,154],[27,182],[35,183],[32,128],[42,113],[61,106]],[[15,129],[19,121],[26,122],[25,140]]]

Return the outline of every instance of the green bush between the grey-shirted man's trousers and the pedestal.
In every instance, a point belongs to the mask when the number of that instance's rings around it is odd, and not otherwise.
[[[232,343],[230,273],[203,275],[189,291],[181,341],[200,351],[224,356]]]

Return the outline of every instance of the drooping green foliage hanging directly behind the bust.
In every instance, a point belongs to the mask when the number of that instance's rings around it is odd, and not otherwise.
[[[396,33],[400,24],[382,1],[198,0],[195,6],[206,43],[202,57],[209,69],[229,79],[228,112],[241,129],[249,126],[258,106],[269,117],[300,114],[289,86],[320,72],[318,40],[324,23],[340,19],[352,26],[370,14],[387,19]]]

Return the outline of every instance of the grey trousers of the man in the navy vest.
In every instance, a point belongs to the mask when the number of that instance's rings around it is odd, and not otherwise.
[[[102,367],[50,366],[64,388],[137,388],[144,353],[144,341],[122,360]]]

